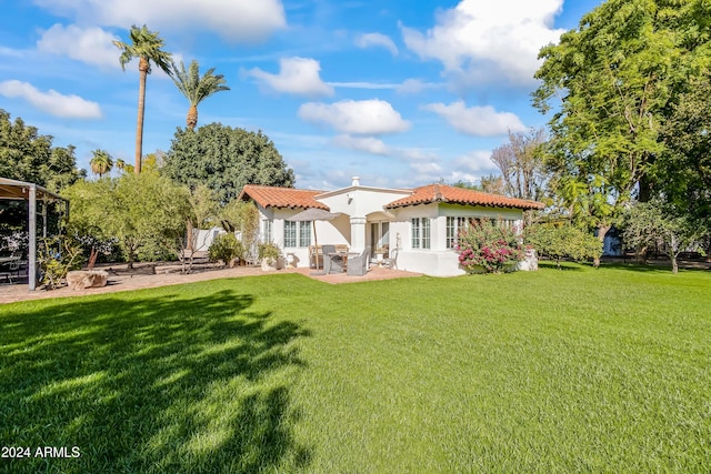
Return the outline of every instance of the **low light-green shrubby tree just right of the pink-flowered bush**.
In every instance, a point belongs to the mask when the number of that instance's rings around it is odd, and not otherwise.
[[[559,269],[562,259],[582,262],[602,255],[602,242],[570,223],[535,223],[525,228],[524,238],[528,245],[553,260]]]

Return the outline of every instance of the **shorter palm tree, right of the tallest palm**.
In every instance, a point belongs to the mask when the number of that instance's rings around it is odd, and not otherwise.
[[[171,67],[173,82],[190,102],[186,123],[190,130],[193,130],[198,124],[198,104],[213,93],[229,91],[230,88],[227,87],[224,75],[213,74],[214,68],[200,77],[200,65],[194,59],[190,62],[187,71],[186,64],[183,64],[182,61],[180,61],[180,68],[178,68],[174,62],[171,63]]]

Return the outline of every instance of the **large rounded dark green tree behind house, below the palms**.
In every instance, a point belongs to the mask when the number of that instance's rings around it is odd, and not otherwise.
[[[191,189],[207,184],[221,205],[236,199],[244,184],[294,183],[293,171],[267,135],[220,123],[194,131],[179,128],[161,172]]]

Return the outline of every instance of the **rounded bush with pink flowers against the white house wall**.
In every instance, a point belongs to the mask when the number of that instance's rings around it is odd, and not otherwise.
[[[460,266],[468,273],[477,273],[481,268],[487,273],[500,273],[523,260],[523,246],[513,230],[488,220],[462,230],[455,250]]]

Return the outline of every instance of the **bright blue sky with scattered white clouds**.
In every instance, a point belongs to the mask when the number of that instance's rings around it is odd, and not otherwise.
[[[262,130],[297,186],[412,188],[495,172],[508,130],[542,127],[532,107],[540,47],[602,0],[0,0],[0,109],[54,145],[133,162],[138,65],[111,40],[147,24],[166,50],[230,91],[199,123]],[[188,102],[148,78],[143,152],[168,151]]]

